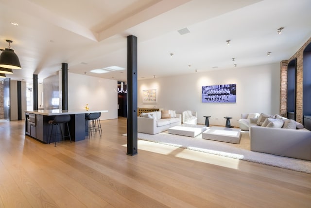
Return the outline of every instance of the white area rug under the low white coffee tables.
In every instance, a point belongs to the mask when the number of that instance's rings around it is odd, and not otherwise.
[[[126,136],[126,133],[123,136]],[[138,132],[138,139],[311,174],[311,161],[250,151],[248,132],[242,133],[240,144],[202,139],[201,134],[193,138],[168,134],[167,132],[155,135]]]

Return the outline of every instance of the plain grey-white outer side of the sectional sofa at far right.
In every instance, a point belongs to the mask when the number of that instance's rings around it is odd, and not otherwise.
[[[251,126],[249,134],[251,151],[311,160],[309,130]]]

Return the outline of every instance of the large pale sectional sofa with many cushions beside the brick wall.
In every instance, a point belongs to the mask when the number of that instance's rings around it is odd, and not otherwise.
[[[256,113],[252,113],[257,117]],[[311,131],[277,114],[242,114],[240,128],[249,130],[250,150],[303,160],[311,160]],[[250,117],[249,117],[250,116]],[[248,129],[249,128],[249,129]]]

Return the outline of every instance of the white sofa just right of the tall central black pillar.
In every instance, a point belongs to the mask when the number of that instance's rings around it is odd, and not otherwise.
[[[162,112],[167,115],[167,111],[141,113],[137,117],[137,131],[142,133],[156,134],[159,132],[164,132],[171,127],[181,125],[181,114],[170,110],[170,116],[162,116]]]

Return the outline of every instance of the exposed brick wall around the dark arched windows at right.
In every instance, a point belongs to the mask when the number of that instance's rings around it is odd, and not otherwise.
[[[297,66],[296,66],[296,121],[299,123],[302,123],[303,121],[303,112],[302,112],[302,99],[303,99],[303,51],[305,48],[311,43],[311,38],[303,46],[294,54],[294,56],[290,57],[289,60],[293,60],[294,58],[297,59]],[[286,60],[288,63],[288,60]],[[285,62],[281,61],[280,67],[281,67],[281,89],[280,89],[280,114],[281,115],[286,115],[286,106],[287,106],[287,101],[286,98],[284,99],[284,90],[286,94],[286,89],[287,89],[287,64],[286,67]],[[285,69],[284,69],[285,68]],[[286,71],[286,72],[284,72]],[[286,76],[285,76],[286,74]],[[285,85],[284,85],[285,83]],[[285,86],[285,87],[284,87]],[[287,96],[287,95],[286,95]],[[285,110],[285,114],[284,114]]]

